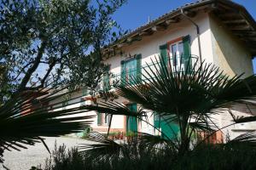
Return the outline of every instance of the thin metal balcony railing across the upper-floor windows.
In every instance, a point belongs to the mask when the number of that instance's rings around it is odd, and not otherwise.
[[[134,79],[137,78],[138,80],[147,81],[148,80],[148,73],[153,73],[153,72],[159,72],[160,71],[160,66],[165,64],[166,69],[168,71],[172,72],[183,72],[186,69],[191,70],[191,68],[195,67],[197,68],[199,65],[198,62],[198,56],[196,55],[189,55],[189,56],[184,56],[184,55],[176,55],[174,57],[168,57],[166,61],[164,61],[162,64],[160,63],[159,60],[150,62],[147,64],[142,65],[138,69],[134,70],[125,70],[124,72],[120,72],[118,74],[110,74],[109,77],[109,83],[105,82],[103,83],[102,89],[108,90],[113,86],[115,83],[127,83],[127,84],[132,84],[134,82]],[[150,75],[151,77],[154,77],[154,75]],[[108,85],[108,86],[106,86]]]

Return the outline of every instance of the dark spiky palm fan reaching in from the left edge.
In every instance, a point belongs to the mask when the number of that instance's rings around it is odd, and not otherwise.
[[[0,162],[4,150],[27,149],[28,145],[42,142],[49,151],[44,137],[79,133],[90,125],[93,116],[77,115],[86,111],[83,106],[74,106],[81,96],[67,99],[63,105],[64,96],[73,93],[66,88],[23,92],[0,106]],[[64,106],[69,109],[64,110]]]

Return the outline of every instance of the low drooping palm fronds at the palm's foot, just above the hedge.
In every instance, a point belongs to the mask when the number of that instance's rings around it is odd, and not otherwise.
[[[125,143],[118,144],[100,133],[92,132],[85,138],[94,144],[80,144],[79,154],[92,161],[113,161],[127,157],[134,159],[148,152],[156,154],[166,150],[176,151],[172,141],[148,133],[133,133]],[[142,154],[142,155],[143,155]]]

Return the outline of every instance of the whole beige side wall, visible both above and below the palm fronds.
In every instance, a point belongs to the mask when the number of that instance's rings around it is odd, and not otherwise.
[[[210,15],[209,21],[212,35],[213,63],[231,77],[242,73],[244,73],[243,77],[253,75],[252,54],[249,53],[249,50],[214,15]],[[236,105],[231,111],[236,116],[250,116],[246,105]],[[220,127],[234,123],[231,121],[232,117],[228,111],[221,114],[218,119]],[[224,141],[226,137],[234,139],[241,133],[247,132],[247,130],[256,129],[254,124],[255,122],[241,123],[224,128]]]

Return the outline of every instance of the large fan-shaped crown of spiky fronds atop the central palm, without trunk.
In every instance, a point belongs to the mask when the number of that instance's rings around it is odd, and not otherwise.
[[[245,99],[255,99],[256,77],[229,77],[215,65],[195,62],[184,71],[169,68],[155,59],[153,66],[143,71],[143,80],[117,86],[122,97],[143,105],[143,108],[173,114],[218,112]],[[153,62],[153,60],[152,60]],[[142,83],[141,83],[142,82]],[[135,85],[137,84],[137,85]],[[140,84],[140,85],[138,85]]]

